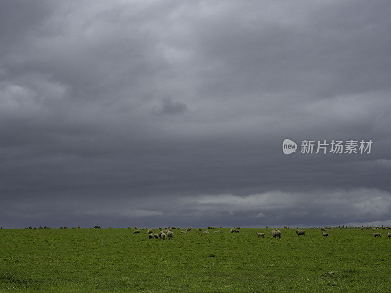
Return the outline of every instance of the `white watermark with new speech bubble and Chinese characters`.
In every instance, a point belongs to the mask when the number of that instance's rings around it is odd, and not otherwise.
[[[300,146],[301,154],[370,154],[372,140],[303,140]],[[282,142],[282,152],[289,155],[296,152],[298,146],[291,139],[284,139]]]

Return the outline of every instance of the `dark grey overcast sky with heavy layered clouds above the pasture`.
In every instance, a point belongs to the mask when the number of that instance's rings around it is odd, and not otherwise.
[[[0,225],[391,224],[390,1],[0,2]],[[372,140],[364,154],[282,152]]]

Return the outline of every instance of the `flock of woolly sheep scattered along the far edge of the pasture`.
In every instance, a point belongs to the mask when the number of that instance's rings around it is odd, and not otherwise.
[[[137,228],[137,227],[134,227],[136,230],[133,231],[133,234],[140,234],[140,230]],[[220,227],[222,228],[222,227]],[[266,226],[267,228],[267,226]],[[391,229],[391,227],[387,227],[388,229]],[[147,228],[148,229],[148,228]],[[171,226],[168,226],[168,228],[165,228],[164,230],[159,227],[159,230],[160,232],[157,233],[157,234],[153,234],[153,230],[152,229],[148,229],[147,230],[147,234],[149,235],[149,239],[166,239],[166,236],[168,237],[169,240],[171,240],[171,238],[173,238],[174,236],[174,232],[173,230],[180,230],[179,227],[171,227]],[[180,233],[186,233],[187,231],[191,231],[193,228],[190,226],[188,228],[186,228],[185,230],[182,230],[180,231]],[[213,227],[213,226],[208,226],[208,229],[211,229],[211,230],[214,230],[214,229],[217,229],[217,227]],[[284,229],[289,229],[288,227],[284,226]],[[369,229],[369,228],[367,228]],[[386,229],[386,228],[382,228],[382,229]],[[201,227],[198,228],[199,231],[202,231],[203,229]],[[239,230],[240,230],[240,227],[233,227],[230,229],[230,232],[231,233],[239,233]],[[322,232],[322,236],[323,237],[330,237],[328,235],[328,231],[331,231],[331,230],[327,230],[327,227],[325,228],[320,228],[321,232]],[[361,228],[361,230],[364,230],[363,228]],[[371,228],[371,230],[376,230],[375,228]],[[314,231],[316,231],[316,228],[314,228]],[[213,231],[214,233],[221,233],[220,230],[215,230]],[[205,230],[205,231],[202,231],[203,234],[209,234],[209,231],[208,230]],[[265,233],[259,233],[259,232],[255,232],[257,237],[262,237],[262,238],[265,238]],[[272,234],[273,238],[281,238],[281,231],[278,230],[277,228],[273,229],[270,231],[270,233]],[[299,230],[299,228],[296,228],[296,234],[297,236],[305,236],[305,230]],[[376,237],[381,237],[381,234],[379,232],[375,232],[375,233],[372,233],[371,236],[374,236],[375,238]],[[391,233],[387,231],[387,238],[391,238]]]

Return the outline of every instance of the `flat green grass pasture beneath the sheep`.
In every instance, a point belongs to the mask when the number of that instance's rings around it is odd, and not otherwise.
[[[205,230],[205,229],[204,229]],[[0,230],[0,292],[365,292],[391,290],[391,239],[370,230],[186,234]],[[255,231],[264,232],[258,238]],[[157,233],[158,230],[154,229]]]

